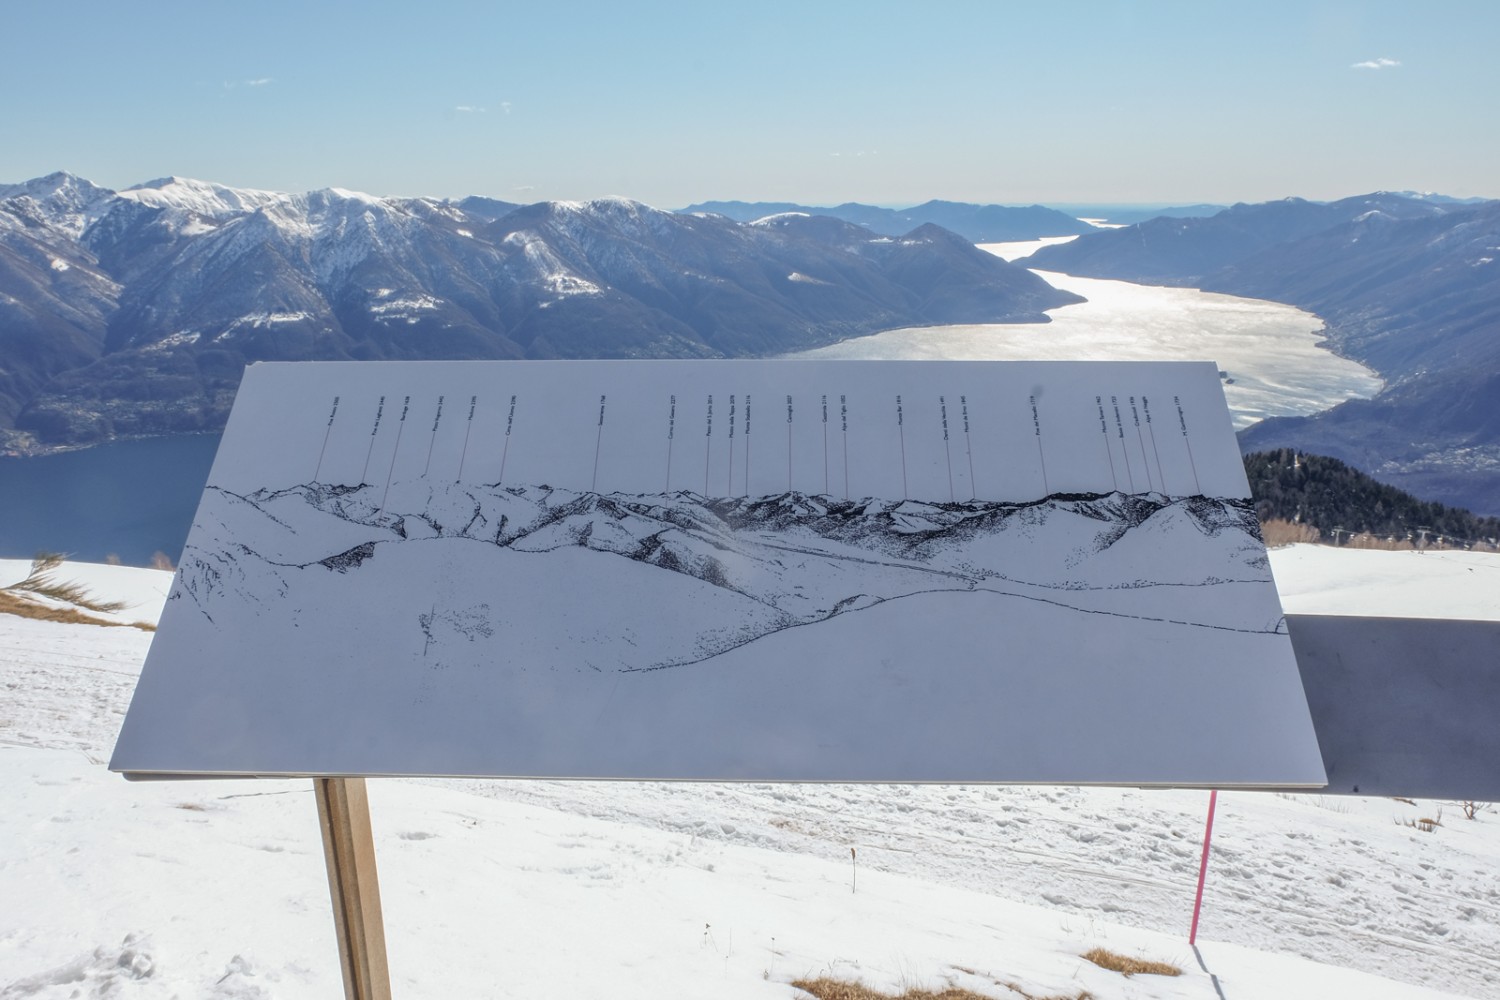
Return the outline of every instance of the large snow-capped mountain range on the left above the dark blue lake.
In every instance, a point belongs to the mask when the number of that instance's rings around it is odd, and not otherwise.
[[[249,361],[746,357],[1078,301],[930,225],[603,199],[0,187],[0,444],[222,426]]]

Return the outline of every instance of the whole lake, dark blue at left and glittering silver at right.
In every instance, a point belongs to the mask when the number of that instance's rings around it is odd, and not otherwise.
[[[1006,259],[1041,240],[986,244]],[[951,360],[1212,360],[1226,372],[1234,427],[1368,397],[1380,379],[1320,346],[1323,322],[1281,303],[1042,273],[1088,303],[1048,324],[890,330],[795,357]],[[208,477],[218,436],[117,441],[38,459],[0,459],[0,558],[63,552],[102,562],[174,564]]]

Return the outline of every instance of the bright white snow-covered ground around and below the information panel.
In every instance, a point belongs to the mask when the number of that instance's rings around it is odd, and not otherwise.
[[[1272,559],[1293,612],[1500,606],[1500,556]],[[26,568],[0,561],[0,586]],[[60,576],[136,603],[128,619],[170,580]],[[338,996],[308,781],[104,769],[148,643],[0,616],[0,999]],[[1206,798],[370,781],[398,997],[794,997],[818,975],[994,997],[1500,997],[1500,814],[1221,795],[1200,967]],[[1404,825],[1438,810],[1434,832]],[[1078,958],[1095,945],[1184,975],[1124,979]]]

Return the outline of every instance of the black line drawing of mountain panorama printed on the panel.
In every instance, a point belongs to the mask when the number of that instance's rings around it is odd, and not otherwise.
[[[944,592],[984,595],[1002,619],[1047,604],[1185,628],[1281,628],[1275,603],[1252,598],[1270,574],[1242,499],[1110,492],[933,502],[308,483],[243,495],[210,487],[194,531],[171,598],[213,622],[254,616],[270,595],[308,609],[294,615],[369,615],[375,595],[399,592],[414,565],[429,567],[442,592],[416,612],[408,603],[382,613],[410,621],[411,642],[435,667],[684,667],[788,628]],[[1170,562],[1156,555],[1164,546]],[[1244,595],[1224,600],[1236,591]],[[548,618],[558,627],[537,636],[534,622]],[[538,643],[548,648],[528,651]]]

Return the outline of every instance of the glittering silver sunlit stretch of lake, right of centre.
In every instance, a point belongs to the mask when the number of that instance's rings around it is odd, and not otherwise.
[[[987,243],[981,249],[1018,259],[1047,243]],[[1380,378],[1326,348],[1323,321],[1294,306],[1160,288],[1056,271],[1048,283],[1088,298],[1048,312],[1048,324],[914,327],[855,337],[800,358],[858,360],[1058,360],[1215,361],[1224,397],[1244,429],[1266,417],[1300,417],[1347,399],[1370,397]]]

